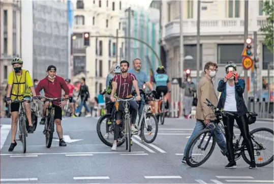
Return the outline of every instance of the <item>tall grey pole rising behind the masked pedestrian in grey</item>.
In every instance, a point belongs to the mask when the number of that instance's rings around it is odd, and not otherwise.
[[[184,82],[184,14],[183,14],[183,5],[184,2],[180,1],[180,76],[181,76],[181,82]],[[180,90],[180,89],[179,89]],[[178,99],[180,99],[180,115],[183,116],[184,114],[184,108],[183,108],[183,101],[184,101],[184,93],[181,95],[178,93]]]

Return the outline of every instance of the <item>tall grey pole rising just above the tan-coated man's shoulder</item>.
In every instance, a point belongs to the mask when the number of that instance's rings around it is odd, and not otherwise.
[[[201,1],[197,2],[197,86],[200,80],[200,21],[201,21]]]

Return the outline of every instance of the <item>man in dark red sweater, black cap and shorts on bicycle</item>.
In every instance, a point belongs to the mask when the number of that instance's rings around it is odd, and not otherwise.
[[[62,77],[56,75],[56,67],[50,65],[47,69],[48,76],[40,80],[38,85],[35,88],[36,94],[40,95],[40,91],[44,89],[45,97],[47,98],[62,98],[62,89],[65,91],[65,100],[53,101],[54,107],[54,120],[56,124],[56,132],[59,137],[59,146],[67,146],[66,142],[63,140],[63,129],[61,126],[62,120],[62,107],[67,104],[69,98],[69,87],[66,84],[65,80]],[[44,101],[45,99],[42,99]],[[49,105],[49,102],[45,102],[43,108],[43,118],[40,121],[40,125],[45,125],[45,114],[46,108]]]

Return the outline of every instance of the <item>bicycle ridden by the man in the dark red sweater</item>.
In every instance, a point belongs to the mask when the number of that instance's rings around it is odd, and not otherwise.
[[[47,98],[42,97],[46,100],[49,100],[49,105],[46,109],[46,116],[45,116],[45,128],[43,134],[46,136],[46,147],[50,148],[52,139],[53,139],[53,132],[54,132],[54,107],[53,101],[54,100],[64,100],[64,98]],[[40,99],[42,99],[40,98]]]

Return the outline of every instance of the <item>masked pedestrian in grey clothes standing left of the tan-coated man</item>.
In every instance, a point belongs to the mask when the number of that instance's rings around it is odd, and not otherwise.
[[[181,88],[185,89],[185,98],[184,98],[185,118],[188,118],[191,112],[194,94],[196,93],[197,89],[196,89],[196,85],[192,82],[192,79],[190,76],[188,76],[187,81],[182,83]]]

